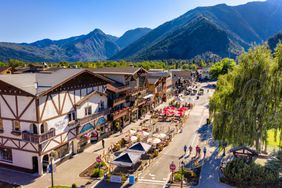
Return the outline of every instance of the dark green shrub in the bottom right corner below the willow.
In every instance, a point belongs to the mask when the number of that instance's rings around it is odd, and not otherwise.
[[[265,185],[278,182],[278,173],[254,162],[247,164],[243,159],[227,163],[224,176],[235,185]]]

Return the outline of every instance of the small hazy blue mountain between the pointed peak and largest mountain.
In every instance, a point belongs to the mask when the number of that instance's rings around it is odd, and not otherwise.
[[[120,48],[125,48],[134,41],[143,37],[147,33],[151,31],[150,28],[136,28],[125,32],[119,39],[117,39],[116,43]]]

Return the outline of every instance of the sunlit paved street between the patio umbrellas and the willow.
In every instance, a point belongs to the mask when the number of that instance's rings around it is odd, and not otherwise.
[[[199,140],[198,129],[206,123],[208,118],[208,98],[211,92],[201,96],[199,100],[195,100],[195,106],[190,112],[189,119],[181,134],[176,135],[170,145],[165,148],[158,159],[150,165],[142,174],[139,175],[139,181],[134,188],[158,188],[163,187],[169,177],[169,164],[174,161],[179,166],[179,163],[189,158],[182,157],[184,145],[196,146]]]

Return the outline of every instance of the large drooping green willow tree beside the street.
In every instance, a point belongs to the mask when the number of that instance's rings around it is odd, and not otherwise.
[[[210,100],[215,139],[235,145],[255,144],[260,151],[261,143],[267,142],[267,130],[281,129],[281,52],[279,46],[273,58],[266,45],[253,47],[239,57],[233,71],[219,77]]]

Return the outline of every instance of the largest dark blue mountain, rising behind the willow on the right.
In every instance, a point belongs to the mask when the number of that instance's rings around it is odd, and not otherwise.
[[[281,0],[198,7],[160,25],[112,59],[185,59],[205,52],[234,57],[281,29]]]

